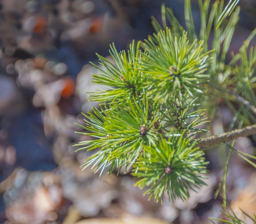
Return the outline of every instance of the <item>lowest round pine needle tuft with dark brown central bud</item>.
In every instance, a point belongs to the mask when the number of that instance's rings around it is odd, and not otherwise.
[[[150,195],[149,199],[154,196],[156,202],[163,202],[167,192],[169,200],[185,201],[189,198],[188,189],[206,185],[201,176],[207,172],[204,152],[184,139],[184,133],[180,137],[162,138],[144,150],[149,155],[138,159],[132,175],[142,177],[135,184],[139,188],[150,186],[144,193]]]

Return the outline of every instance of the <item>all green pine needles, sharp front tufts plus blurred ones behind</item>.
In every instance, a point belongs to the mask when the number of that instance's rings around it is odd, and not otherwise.
[[[205,184],[204,150],[197,147],[199,139],[192,138],[205,131],[202,127],[209,121],[204,113],[213,117],[221,97],[235,114],[230,128],[238,119],[238,128],[256,122],[255,47],[248,52],[256,29],[227,61],[239,20],[237,2],[223,9],[224,0],[213,4],[210,0],[198,0],[199,33],[195,31],[198,22],[193,21],[190,0],[185,0],[185,28],[171,9],[162,6],[163,26],[153,18],[153,36],[144,42],[133,41],[128,51],[117,52],[115,45],[111,45],[114,63],[98,55],[103,69],[94,65],[99,74],[92,75],[92,82],[108,86],[108,90],[92,93],[90,100],[101,104],[84,114],[86,125],[80,125],[87,131],[81,134],[94,140],[76,146],[79,150],[96,150],[85,161],[84,168],[100,171],[100,175],[104,170],[111,173],[121,167],[126,172],[132,170],[132,175],[141,178],[136,185],[147,188],[145,194],[156,202],[163,201],[165,192],[169,200],[185,201],[189,189]],[[227,13],[231,13],[229,20],[223,21]],[[220,183],[224,200],[231,153],[252,165],[246,157],[255,159],[235,150],[233,145]]]

